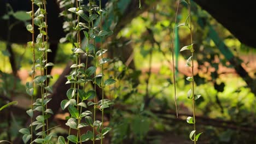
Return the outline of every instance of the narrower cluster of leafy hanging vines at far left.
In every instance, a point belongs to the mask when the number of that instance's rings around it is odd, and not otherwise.
[[[34,13],[34,4],[37,5],[38,9]],[[53,88],[48,85],[48,79],[52,79],[53,76],[48,75],[47,69],[50,66],[53,66],[53,63],[48,63],[48,52],[51,52],[48,49],[48,25],[47,25],[47,11],[46,11],[46,1],[45,0],[36,0],[32,1],[32,11],[29,11],[28,14],[32,17],[32,25],[27,25],[27,30],[32,33],[32,41],[28,44],[32,48],[32,57],[33,57],[33,67],[31,71],[32,82],[27,82],[27,94],[31,96],[31,109],[27,111],[27,114],[31,117],[30,130],[26,128],[20,129],[20,133],[24,134],[22,140],[24,143],[31,140],[31,143],[51,143],[51,138],[55,136],[53,133],[49,133],[49,124],[48,118],[50,114],[53,114],[51,109],[48,109],[47,104],[51,99],[48,98],[50,93],[53,92]],[[36,41],[34,40],[35,25],[38,26],[39,34],[37,35]],[[40,57],[36,59],[35,57],[35,42],[38,46],[38,53]],[[37,64],[36,64],[37,63]],[[39,69],[40,74],[34,76],[36,69]],[[39,86],[40,96],[35,103],[33,103],[34,95],[34,85]],[[33,122],[34,111],[42,112],[42,115],[36,116],[36,121]],[[33,126],[36,125],[34,131]],[[36,133],[38,137],[33,139],[33,133],[37,130],[40,130]],[[42,137],[42,138],[39,138]]]

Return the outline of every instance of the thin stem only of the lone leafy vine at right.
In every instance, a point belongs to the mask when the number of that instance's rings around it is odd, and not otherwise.
[[[192,31],[192,24],[191,24],[191,3],[190,0],[188,1],[188,10],[189,10],[189,31],[190,31],[190,43],[193,44],[193,31]],[[191,48],[191,69],[192,69],[192,100],[193,100],[193,125],[194,125],[194,144],[196,144],[196,119],[195,119],[195,95],[194,95],[194,87],[195,87],[195,81],[194,81],[194,46],[192,45]]]

